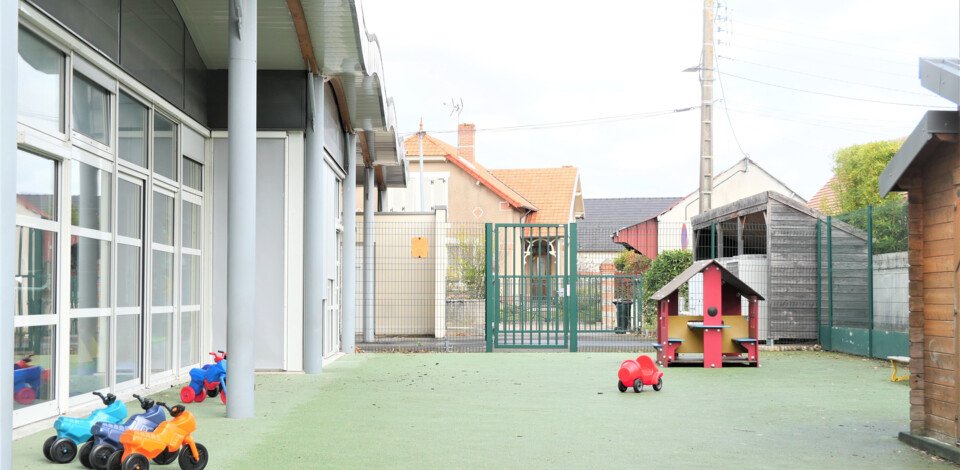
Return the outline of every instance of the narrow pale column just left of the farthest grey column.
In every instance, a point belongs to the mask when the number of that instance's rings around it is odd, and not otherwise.
[[[343,182],[343,319],[340,347],[353,354],[357,339],[357,134],[347,132],[347,177]]]

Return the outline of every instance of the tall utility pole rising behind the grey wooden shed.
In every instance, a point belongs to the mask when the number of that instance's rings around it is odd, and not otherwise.
[[[700,213],[713,207],[713,3],[703,0],[703,65],[700,67]]]

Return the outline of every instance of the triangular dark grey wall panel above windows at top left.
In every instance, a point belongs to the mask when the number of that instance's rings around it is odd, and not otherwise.
[[[120,0],[30,0],[114,62],[120,61]]]

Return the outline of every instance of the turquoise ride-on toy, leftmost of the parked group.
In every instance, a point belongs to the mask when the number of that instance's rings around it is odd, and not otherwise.
[[[97,423],[120,423],[127,417],[127,407],[117,397],[108,393],[93,392],[103,401],[104,408],[93,410],[86,418],[61,416],[53,423],[56,436],[43,442],[43,456],[52,462],[70,463],[77,456],[77,445],[92,440],[90,428]]]

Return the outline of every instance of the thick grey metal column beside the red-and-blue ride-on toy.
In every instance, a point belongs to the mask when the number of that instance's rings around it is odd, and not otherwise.
[[[227,232],[228,418],[254,414],[253,358],[257,305],[257,0],[230,2],[227,148],[230,158]]]

